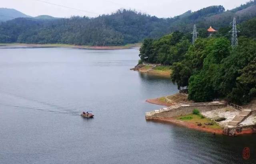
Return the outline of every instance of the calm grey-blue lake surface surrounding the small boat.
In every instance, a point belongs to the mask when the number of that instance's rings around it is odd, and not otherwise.
[[[177,87],[131,71],[138,59],[137,48],[0,48],[0,163],[256,163],[255,135],[146,122],[161,106],[145,100]]]

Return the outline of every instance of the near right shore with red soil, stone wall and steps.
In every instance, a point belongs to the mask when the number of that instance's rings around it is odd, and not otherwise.
[[[238,136],[256,133],[255,102],[239,108],[230,106],[227,102],[194,103],[187,100],[186,94],[174,94],[162,98],[149,99],[146,102],[167,106],[159,110],[146,112],[146,120],[167,122],[186,126],[213,134]],[[249,108],[250,109],[247,109]],[[200,117],[192,114],[192,110],[199,110]],[[234,121],[238,118],[240,122]],[[209,123],[211,122],[211,123]],[[234,125],[236,122],[236,125]]]

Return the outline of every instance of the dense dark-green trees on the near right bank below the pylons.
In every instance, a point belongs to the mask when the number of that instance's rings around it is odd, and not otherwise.
[[[188,87],[196,102],[226,98],[246,104],[256,96],[256,18],[238,25],[239,45],[230,44],[230,27],[214,37],[189,42],[189,33],[174,32],[158,40],[145,39],[140,62],[172,65],[172,82]]]

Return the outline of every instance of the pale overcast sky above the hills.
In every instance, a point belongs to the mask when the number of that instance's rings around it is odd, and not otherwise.
[[[212,5],[223,5],[228,10],[240,6],[248,0],[41,0],[88,12],[39,2],[40,0],[1,1],[0,7],[14,8],[30,16],[70,17],[79,15],[95,17],[99,14],[110,14],[120,8],[131,8],[152,16],[168,18],[180,15],[188,10],[196,11]]]

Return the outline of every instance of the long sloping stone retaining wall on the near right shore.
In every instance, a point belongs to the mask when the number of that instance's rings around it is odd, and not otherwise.
[[[225,108],[227,105],[221,102],[209,102],[209,103],[193,103],[183,104],[176,106],[175,108],[169,108],[169,110],[155,110],[154,114],[146,114],[147,120],[159,119],[159,118],[171,118],[176,116],[183,116],[192,114],[194,109],[198,109],[200,112],[207,112],[211,110]]]

